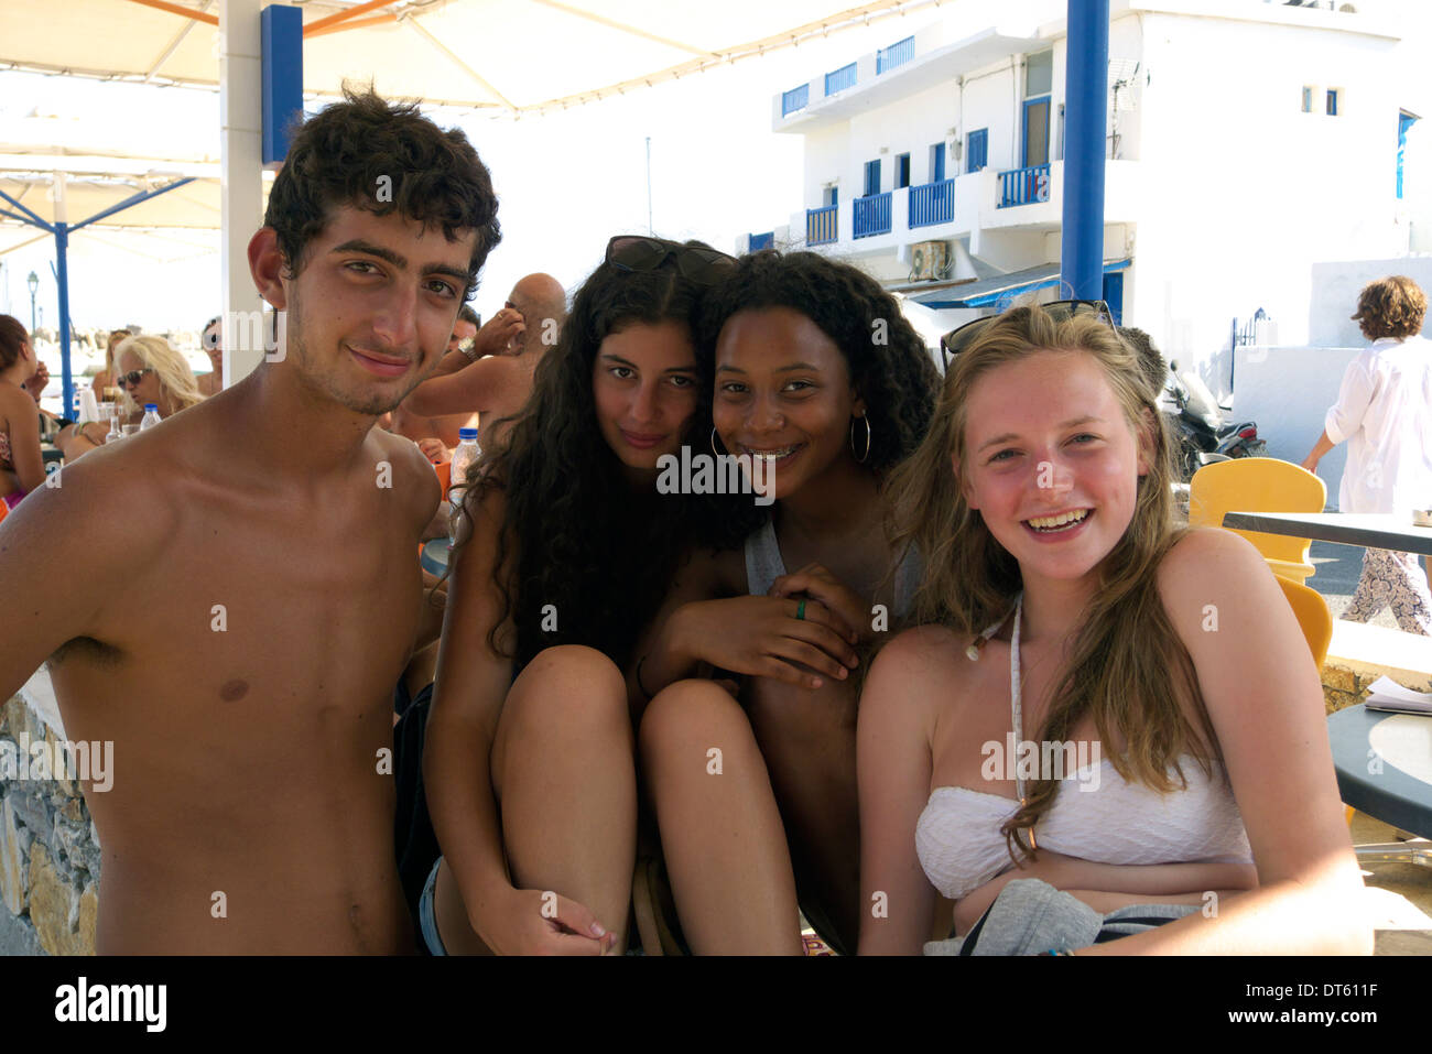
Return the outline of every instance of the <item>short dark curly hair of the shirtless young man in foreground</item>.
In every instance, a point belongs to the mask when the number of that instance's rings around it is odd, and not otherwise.
[[[344,102],[325,106],[294,133],[263,213],[289,274],[304,268],[309,241],[344,205],[440,226],[450,241],[458,231],[477,231],[463,299],[473,295],[487,253],[503,236],[493,178],[467,136],[444,132],[417,103],[390,103],[371,87],[358,93],[345,84]]]

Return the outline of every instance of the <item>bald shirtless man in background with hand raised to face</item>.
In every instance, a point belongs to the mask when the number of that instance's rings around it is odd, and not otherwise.
[[[513,286],[505,306],[483,331],[471,351],[450,352],[437,372],[404,400],[404,410],[422,417],[475,411],[484,450],[503,440],[503,418],[516,415],[533,390],[533,372],[567,318],[567,292],[551,275],[527,275]],[[491,327],[491,337],[484,335]],[[501,344],[497,339],[505,338]],[[491,354],[485,347],[497,345]]]

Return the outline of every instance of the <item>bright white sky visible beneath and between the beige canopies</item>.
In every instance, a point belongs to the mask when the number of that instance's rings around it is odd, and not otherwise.
[[[657,84],[544,117],[513,122],[432,110],[463,127],[493,172],[503,242],[474,296],[485,318],[513,284],[553,274],[569,292],[600,262],[613,233],[699,238],[733,252],[803,209],[802,140],[770,130],[772,97],[884,47],[931,21],[911,16]],[[219,158],[218,92],[0,72],[0,122],[39,112],[96,139],[162,153],[165,145]],[[312,103],[321,106],[322,100]],[[129,246],[122,248],[122,246]],[[0,256],[0,311],[30,322],[26,276],[40,278],[37,321],[57,314],[53,239]],[[80,232],[70,252],[70,316],[80,328],[139,324],[198,329],[219,311],[218,233]]]

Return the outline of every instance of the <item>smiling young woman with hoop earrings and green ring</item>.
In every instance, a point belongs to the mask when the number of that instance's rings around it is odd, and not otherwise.
[[[712,450],[760,460],[775,504],[743,547],[682,569],[639,653],[643,775],[693,951],[799,954],[798,889],[852,948],[855,670],[919,574],[886,540],[879,485],[938,375],[895,299],[816,253],[743,258],[702,315]],[[746,677],[736,697],[706,666]]]

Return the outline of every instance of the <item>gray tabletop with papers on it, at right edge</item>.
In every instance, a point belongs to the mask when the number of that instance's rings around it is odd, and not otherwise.
[[[1396,720],[1386,727],[1402,729],[1403,733],[1421,730],[1423,726],[1416,722],[1432,725],[1428,716],[1369,710],[1362,705],[1327,717],[1337,792],[1345,803],[1383,823],[1432,838],[1432,783],[1399,769],[1372,746],[1373,729],[1389,719]]]

